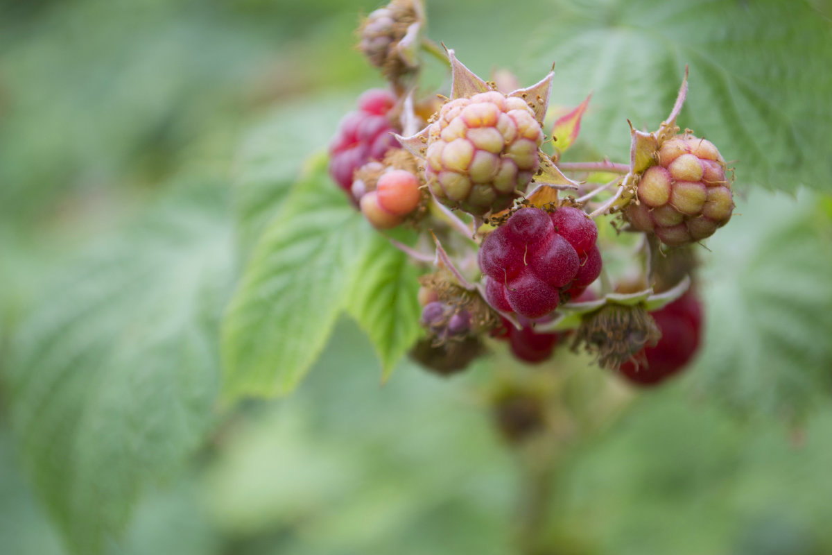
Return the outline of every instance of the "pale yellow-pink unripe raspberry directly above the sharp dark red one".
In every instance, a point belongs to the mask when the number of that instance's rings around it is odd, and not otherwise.
[[[496,91],[457,98],[428,127],[428,186],[450,208],[476,216],[501,211],[532,181],[542,141],[522,98]]]

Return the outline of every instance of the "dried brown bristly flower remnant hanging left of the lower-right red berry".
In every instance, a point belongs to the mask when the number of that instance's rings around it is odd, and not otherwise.
[[[587,352],[597,356],[599,366],[618,369],[659,339],[661,330],[643,306],[607,304],[583,316],[572,339],[572,349],[584,345]]]

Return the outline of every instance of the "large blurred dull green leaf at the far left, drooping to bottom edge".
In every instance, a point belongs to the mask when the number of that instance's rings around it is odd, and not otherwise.
[[[12,338],[12,425],[75,553],[100,553],[142,488],[170,475],[213,421],[232,268],[218,191],[169,198],[62,270]]]

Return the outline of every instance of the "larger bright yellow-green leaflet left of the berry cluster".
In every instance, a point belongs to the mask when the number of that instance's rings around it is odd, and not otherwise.
[[[369,233],[316,160],[260,238],[225,315],[227,398],[295,389],[346,305]]]

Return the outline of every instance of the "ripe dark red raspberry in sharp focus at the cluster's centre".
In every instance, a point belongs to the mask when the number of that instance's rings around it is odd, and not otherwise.
[[[488,303],[537,319],[577,296],[601,273],[595,222],[572,206],[551,215],[540,208],[515,212],[479,250]]]

